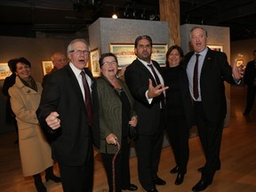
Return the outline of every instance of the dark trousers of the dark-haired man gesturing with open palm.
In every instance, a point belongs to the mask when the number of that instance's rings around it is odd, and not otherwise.
[[[164,139],[164,114],[161,115],[158,129],[154,135],[139,135],[135,140],[136,155],[138,156],[139,180],[142,188],[149,190],[156,188],[154,180],[157,178]]]

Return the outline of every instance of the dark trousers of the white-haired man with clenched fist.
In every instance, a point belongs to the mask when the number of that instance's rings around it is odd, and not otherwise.
[[[88,156],[84,164],[69,166],[60,164],[60,177],[64,192],[92,192],[93,187],[93,148],[89,144]]]

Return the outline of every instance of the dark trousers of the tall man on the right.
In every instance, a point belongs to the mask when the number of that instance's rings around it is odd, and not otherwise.
[[[212,121],[204,115],[202,102],[195,102],[196,125],[206,163],[202,172],[202,180],[212,182],[217,169],[220,169],[220,143],[224,119]],[[210,109],[209,109],[210,110]]]

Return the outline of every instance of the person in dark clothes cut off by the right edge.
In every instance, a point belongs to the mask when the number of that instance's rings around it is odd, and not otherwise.
[[[244,71],[244,84],[247,85],[246,108],[244,116],[252,111],[256,94],[256,50],[253,51],[253,60],[249,61]]]

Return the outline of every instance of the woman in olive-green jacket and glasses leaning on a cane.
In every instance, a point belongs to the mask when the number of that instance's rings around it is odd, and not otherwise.
[[[113,191],[112,159],[115,161],[116,192],[137,190],[130,180],[129,127],[135,129],[138,119],[133,110],[133,99],[124,81],[116,78],[116,55],[108,52],[100,56],[101,76],[97,79],[100,103],[100,154],[108,175],[109,191]]]

